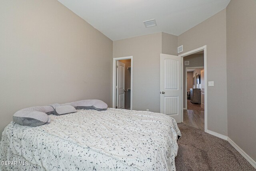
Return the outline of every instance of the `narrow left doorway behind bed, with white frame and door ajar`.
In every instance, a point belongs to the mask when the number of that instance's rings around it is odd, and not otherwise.
[[[132,56],[113,59],[113,108],[132,109]]]

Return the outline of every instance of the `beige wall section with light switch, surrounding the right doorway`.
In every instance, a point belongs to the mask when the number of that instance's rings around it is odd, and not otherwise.
[[[226,84],[226,9],[178,36],[184,52],[207,45],[208,129],[228,135]],[[209,105],[210,104],[210,105]]]

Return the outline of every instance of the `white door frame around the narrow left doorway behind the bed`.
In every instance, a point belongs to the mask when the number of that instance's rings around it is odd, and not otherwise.
[[[113,58],[113,77],[112,77],[112,107],[116,108],[116,63],[119,60],[131,60],[131,96],[130,109],[132,110],[132,73],[133,73],[133,56]]]

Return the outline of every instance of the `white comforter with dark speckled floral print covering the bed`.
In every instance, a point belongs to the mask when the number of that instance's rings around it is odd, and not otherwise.
[[[48,125],[4,129],[0,160],[24,163],[0,170],[175,171],[181,135],[170,116],[108,108],[50,117]]]

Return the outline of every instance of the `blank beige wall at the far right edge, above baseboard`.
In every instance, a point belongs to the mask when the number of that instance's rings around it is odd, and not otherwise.
[[[227,10],[228,137],[256,161],[256,1]]]

